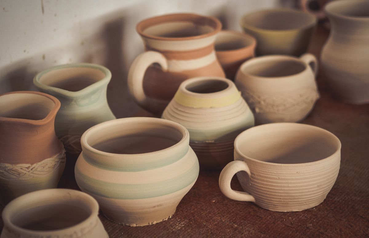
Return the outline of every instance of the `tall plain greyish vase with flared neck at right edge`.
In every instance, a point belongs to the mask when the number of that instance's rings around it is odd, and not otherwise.
[[[332,1],[325,12],[332,28],[321,52],[328,83],[341,101],[369,103],[369,1]]]

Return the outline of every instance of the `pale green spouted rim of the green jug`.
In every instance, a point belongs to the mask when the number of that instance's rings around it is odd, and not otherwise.
[[[42,76],[44,76],[46,73],[49,73],[51,71],[56,71],[59,69],[68,69],[68,68],[91,68],[91,69],[97,69],[100,70],[101,72],[103,72],[105,74],[105,76],[100,79],[99,81],[79,90],[79,91],[68,91],[65,89],[60,89],[58,87],[53,87],[53,86],[47,86],[43,83],[40,83],[39,80],[41,79]],[[33,84],[42,89],[45,90],[47,92],[51,92],[51,93],[57,93],[59,95],[63,95],[66,97],[80,97],[86,94],[89,94],[91,92],[92,89],[95,88],[99,88],[101,86],[103,86],[104,84],[108,84],[110,82],[111,79],[111,72],[108,68],[102,66],[102,65],[98,65],[98,64],[90,64],[90,63],[77,63],[77,64],[63,64],[63,65],[57,65],[57,66],[53,66],[51,68],[45,69],[44,71],[39,72],[33,79]]]

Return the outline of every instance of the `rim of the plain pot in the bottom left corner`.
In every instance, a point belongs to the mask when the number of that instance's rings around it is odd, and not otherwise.
[[[12,211],[12,208],[17,209],[19,204],[30,203],[30,204],[34,205],[35,203],[37,203],[38,205],[41,204],[41,206],[42,206],[44,204],[42,202],[43,199],[48,200],[47,198],[60,198],[62,195],[65,195],[65,194],[69,194],[70,197],[72,197],[74,195],[75,198],[84,199],[85,204],[88,205],[86,207],[90,208],[89,212],[91,214],[85,220],[83,220],[82,222],[77,223],[73,226],[58,229],[58,230],[49,230],[49,231],[29,230],[29,229],[19,227],[19,226],[15,225],[11,222],[11,215],[12,215],[12,213],[14,213]],[[40,200],[40,196],[42,196],[43,199]],[[65,203],[65,201],[64,201],[64,203]],[[51,203],[51,204],[58,205],[59,203],[55,202],[55,203]],[[87,227],[89,225],[91,219],[94,219],[95,217],[96,217],[96,219],[99,219],[97,217],[98,213],[99,213],[99,204],[97,203],[97,201],[91,195],[86,194],[86,193],[81,192],[81,191],[72,190],[72,189],[52,188],[52,189],[43,189],[43,190],[30,192],[28,194],[24,194],[22,196],[19,196],[18,198],[13,199],[13,201],[11,201],[10,203],[8,203],[8,205],[5,206],[5,208],[3,210],[3,213],[2,213],[2,217],[3,217],[3,221],[4,221],[4,229],[6,229],[8,227],[11,230],[15,230],[17,232],[26,232],[27,235],[39,236],[39,235],[57,235],[61,231],[63,231],[63,232],[68,232],[68,231],[72,232],[73,230],[76,230],[81,226],[86,226]]]

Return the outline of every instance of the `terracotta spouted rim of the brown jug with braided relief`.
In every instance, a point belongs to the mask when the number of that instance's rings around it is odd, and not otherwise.
[[[37,95],[41,95],[44,96],[46,98],[49,98],[51,101],[54,102],[54,107],[50,110],[50,112],[48,113],[47,116],[45,116],[45,118],[41,119],[41,120],[32,120],[32,119],[21,119],[21,118],[7,118],[7,117],[1,117],[0,116],[0,120],[3,122],[21,122],[21,123],[27,123],[27,124],[31,124],[31,125],[45,125],[49,122],[51,122],[51,120],[55,119],[56,113],[58,113],[59,108],[60,108],[60,101],[49,94],[46,93],[41,93],[41,92],[37,92],[37,91],[13,91],[13,92],[8,92],[8,93],[3,93],[0,94],[0,97],[4,96],[4,95],[9,95],[9,94],[37,94]]]

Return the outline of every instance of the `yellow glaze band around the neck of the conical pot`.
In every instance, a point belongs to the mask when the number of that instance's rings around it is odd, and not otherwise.
[[[220,108],[227,107],[239,100],[241,92],[235,90],[234,93],[219,98],[199,98],[192,95],[184,94],[177,91],[174,100],[184,106],[190,108]]]

